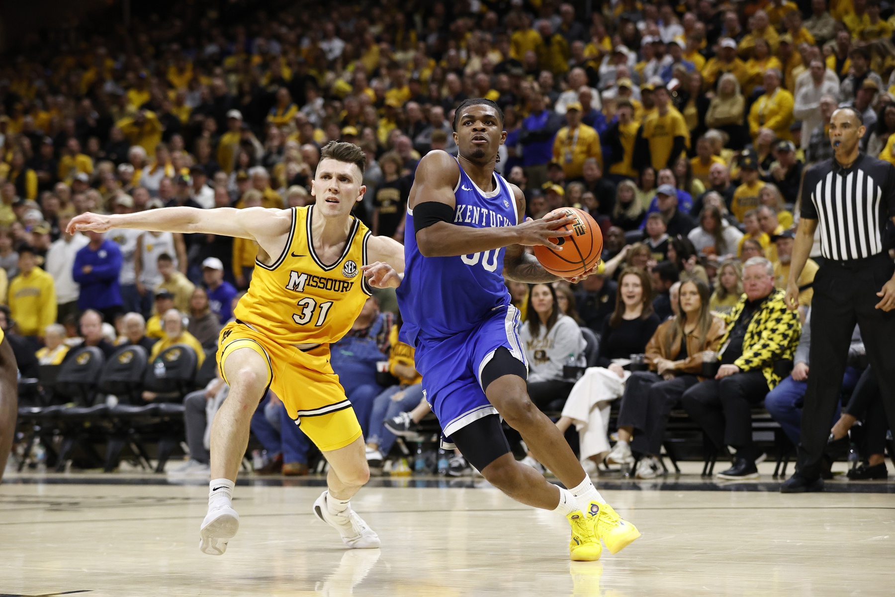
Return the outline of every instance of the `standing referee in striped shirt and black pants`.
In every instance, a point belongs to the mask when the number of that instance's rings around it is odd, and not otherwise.
[[[808,170],[802,187],[801,220],[785,299],[788,309],[798,307],[797,280],[818,225],[823,265],[814,277],[802,441],[796,473],[780,487],[783,493],[823,490],[821,458],[856,322],[895,430],[895,263],[883,246],[887,218],[895,220],[895,166],[858,153],[864,133],[857,110],[842,107],[833,112],[833,158]]]

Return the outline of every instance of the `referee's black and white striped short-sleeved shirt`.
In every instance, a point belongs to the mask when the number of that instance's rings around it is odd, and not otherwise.
[[[895,166],[859,154],[843,168],[835,158],[812,166],[802,185],[802,217],[819,222],[825,259],[864,259],[883,251],[895,217]]]

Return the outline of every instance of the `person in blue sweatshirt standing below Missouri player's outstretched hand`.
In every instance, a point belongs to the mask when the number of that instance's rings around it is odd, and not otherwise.
[[[121,287],[118,284],[121,250],[101,232],[89,231],[85,234],[90,238],[90,243],[75,254],[72,266],[72,278],[81,285],[78,309],[99,311],[106,321],[112,323],[115,315],[122,311]]]

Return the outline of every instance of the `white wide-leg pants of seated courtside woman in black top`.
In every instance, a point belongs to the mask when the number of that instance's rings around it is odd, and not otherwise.
[[[631,373],[619,378],[603,367],[588,367],[568,395],[562,415],[575,422],[581,459],[609,452],[609,409],[612,401],[625,392]]]

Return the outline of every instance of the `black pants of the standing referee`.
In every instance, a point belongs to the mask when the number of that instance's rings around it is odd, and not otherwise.
[[[825,260],[814,276],[811,301],[811,371],[802,410],[802,441],[798,447],[799,476],[814,480],[821,474],[823,448],[840,399],[842,374],[855,323],[867,360],[879,381],[882,404],[895,429],[895,311],[874,309],[876,295],[895,272],[886,253],[863,260]]]

